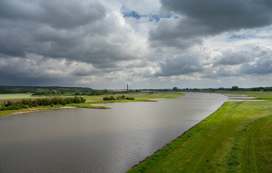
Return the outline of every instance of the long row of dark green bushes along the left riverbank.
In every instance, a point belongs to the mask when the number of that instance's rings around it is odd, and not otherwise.
[[[31,108],[36,106],[47,106],[51,105],[52,107],[54,105],[66,105],[69,103],[83,103],[86,99],[83,97],[75,96],[73,98],[42,98],[42,99],[23,99],[22,101],[16,101],[16,102],[3,102],[0,104],[0,111],[4,110],[18,110],[22,108]]]

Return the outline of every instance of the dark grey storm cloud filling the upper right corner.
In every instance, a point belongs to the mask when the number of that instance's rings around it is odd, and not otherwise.
[[[179,47],[179,44],[172,45],[171,41],[178,38],[181,43],[186,43],[190,39],[201,40],[226,31],[272,24],[272,3],[269,0],[161,0],[161,4],[162,9],[173,11],[180,17],[160,19],[156,28],[150,29],[152,46]],[[194,45],[193,41],[187,42],[187,46]]]

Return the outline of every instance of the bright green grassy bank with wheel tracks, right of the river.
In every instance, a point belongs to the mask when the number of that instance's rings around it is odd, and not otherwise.
[[[272,172],[272,95],[246,95],[270,100],[225,102],[128,172]]]

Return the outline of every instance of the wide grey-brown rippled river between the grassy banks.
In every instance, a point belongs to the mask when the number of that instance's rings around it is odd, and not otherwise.
[[[2,116],[0,172],[126,172],[227,98],[187,92],[158,102],[102,104],[112,108],[108,110],[67,108]]]

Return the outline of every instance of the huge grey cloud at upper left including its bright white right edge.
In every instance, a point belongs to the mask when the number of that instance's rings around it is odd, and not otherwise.
[[[117,68],[117,62],[137,58],[126,51],[130,28],[120,25],[118,15],[106,17],[97,0],[0,1],[1,57],[34,53]]]

